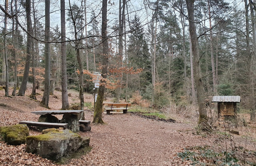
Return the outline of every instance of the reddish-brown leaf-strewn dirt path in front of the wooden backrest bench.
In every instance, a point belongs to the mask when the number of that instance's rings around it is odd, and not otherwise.
[[[92,114],[86,114],[92,120]],[[88,165],[186,165],[177,152],[188,146],[204,145],[205,140],[192,134],[192,126],[158,122],[130,114],[104,114],[106,125],[92,124],[92,151],[80,160]],[[189,131],[190,130],[190,131]],[[83,135],[83,133],[81,133]]]

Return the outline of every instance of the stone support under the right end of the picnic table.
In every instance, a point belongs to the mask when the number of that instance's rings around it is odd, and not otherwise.
[[[79,131],[78,114],[64,114],[60,123],[68,123],[68,129],[72,132]]]

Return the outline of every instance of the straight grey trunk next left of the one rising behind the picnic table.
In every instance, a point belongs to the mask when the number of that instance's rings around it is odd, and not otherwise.
[[[45,0],[45,41],[50,41],[50,0]],[[45,76],[44,76],[44,95],[41,103],[49,108],[50,98],[50,69],[51,66],[51,55],[50,55],[50,43],[45,43]]]

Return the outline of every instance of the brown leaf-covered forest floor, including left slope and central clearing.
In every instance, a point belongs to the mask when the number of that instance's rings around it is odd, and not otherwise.
[[[12,90],[10,89],[10,93]],[[40,106],[43,92],[36,96],[38,101],[30,99],[31,89],[25,96],[4,97],[0,90],[0,126],[18,124],[21,120],[37,121],[39,115],[32,111],[46,110]],[[78,103],[78,92],[69,90],[69,102]],[[92,102],[92,94],[84,95],[85,102]],[[61,92],[54,91],[50,96],[51,110],[60,110]],[[61,117],[58,117],[61,118]],[[93,113],[85,108],[85,119],[93,120]],[[136,114],[103,114],[104,125],[90,124],[90,132],[79,132],[90,137],[92,150],[84,156],[70,160],[70,166],[179,166],[190,165],[177,154],[193,147],[205,147],[216,144],[211,136],[196,134],[195,125],[183,122],[163,122],[143,118]],[[30,135],[41,134],[30,130]],[[239,137],[240,138],[240,137]],[[248,142],[247,142],[248,144]],[[253,144],[254,145],[254,144]],[[250,145],[250,146],[253,146]],[[245,145],[246,146],[246,145]],[[247,145],[249,146],[249,145]],[[0,142],[0,166],[2,165],[58,165],[57,163],[26,153],[26,145],[7,145]]]

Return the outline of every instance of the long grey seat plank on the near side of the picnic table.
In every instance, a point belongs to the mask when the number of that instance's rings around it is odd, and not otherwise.
[[[34,122],[34,121],[20,121],[19,124],[27,124],[28,126],[48,127],[48,128],[67,128],[67,123],[48,123],[48,122]]]

